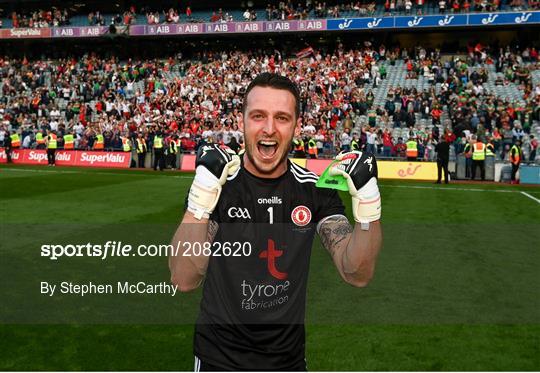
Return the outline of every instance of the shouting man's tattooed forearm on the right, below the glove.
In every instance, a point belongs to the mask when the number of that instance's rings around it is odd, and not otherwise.
[[[380,221],[370,223],[365,231],[359,223],[353,229],[345,216],[334,215],[323,219],[319,236],[343,280],[353,286],[366,286],[373,277],[382,244]]]

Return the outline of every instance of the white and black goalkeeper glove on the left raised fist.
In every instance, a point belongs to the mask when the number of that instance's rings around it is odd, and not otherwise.
[[[240,158],[227,147],[204,145],[197,151],[195,167],[195,179],[188,195],[188,211],[196,219],[208,219],[217,205],[227,177],[240,167]]]

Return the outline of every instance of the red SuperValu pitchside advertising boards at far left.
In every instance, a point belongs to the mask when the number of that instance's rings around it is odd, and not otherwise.
[[[47,151],[36,149],[14,149],[11,161],[15,164],[46,165]],[[129,168],[130,152],[94,152],[78,150],[57,150],[55,163],[58,166]],[[4,148],[0,148],[0,163],[7,163]]]

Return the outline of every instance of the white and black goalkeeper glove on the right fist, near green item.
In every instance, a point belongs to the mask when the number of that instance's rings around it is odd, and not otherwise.
[[[347,180],[352,196],[354,220],[370,223],[381,218],[381,195],[377,186],[377,161],[373,154],[352,151],[340,153],[330,168],[330,175]]]

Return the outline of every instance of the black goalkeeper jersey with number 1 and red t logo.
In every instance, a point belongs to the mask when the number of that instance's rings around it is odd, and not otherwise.
[[[313,237],[321,219],[344,214],[337,192],[316,181],[289,161],[278,178],[242,167],[223,186],[195,328],[202,361],[230,370],[302,366]]]

